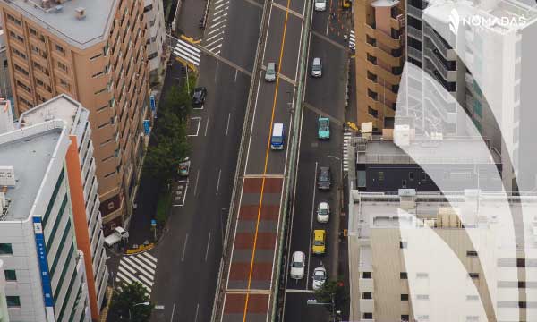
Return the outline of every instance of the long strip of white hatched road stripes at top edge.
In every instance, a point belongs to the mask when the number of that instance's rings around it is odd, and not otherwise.
[[[215,55],[220,55],[224,41],[228,9],[229,0],[217,0],[210,14],[208,29],[203,39],[203,47],[206,47]]]

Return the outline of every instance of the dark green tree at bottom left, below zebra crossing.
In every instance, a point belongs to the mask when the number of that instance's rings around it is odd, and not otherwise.
[[[141,304],[146,302],[149,302],[149,305]],[[121,291],[115,290],[110,305],[110,309],[115,312],[115,318],[132,322],[149,321],[151,310],[155,307],[150,303],[146,289],[138,282],[122,284]]]

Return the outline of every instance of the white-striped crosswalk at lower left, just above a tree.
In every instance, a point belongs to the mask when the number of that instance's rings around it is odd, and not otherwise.
[[[127,255],[119,261],[115,282],[125,284],[138,282],[143,285],[147,294],[151,296],[156,269],[157,258],[153,257],[149,252]]]

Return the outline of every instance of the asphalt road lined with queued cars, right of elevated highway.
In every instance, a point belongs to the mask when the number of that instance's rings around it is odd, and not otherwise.
[[[302,280],[286,279],[284,300],[284,321],[327,321],[328,311],[322,306],[308,306],[306,301],[313,299],[311,275],[315,267],[324,266],[328,276],[337,276],[337,227],[340,215],[342,124],[345,120],[345,64],[348,59],[347,45],[341,36],[340,19],[329,16],[337,10],[337,1],[330,2],[331,9],[324,13],[313,13],[310,33],[308,72],[311,61],[319,57],[322,61],[322,77],[306,80],[305,102],[302,115],[302,132],[298,161],[298,174],[294,189],[294,208],[292,211],[291,231],[288,253],[301,250],[306,254],[306,275]],[[330,139],[317,139],[317,120],[322,114],[330,118]],[[332,189],[319,191],[316,177],[320,166],[329,166],[332,172]],[[330,219],[327,224],[316,220],[317,206],[321,201],[330,205]],[[312,233],[315,229],[327,231],[327,253],[315,256],[311,253]],[[290,255],[287,257],[290,258]],[[288,275],[289,266],[285,274]]]

